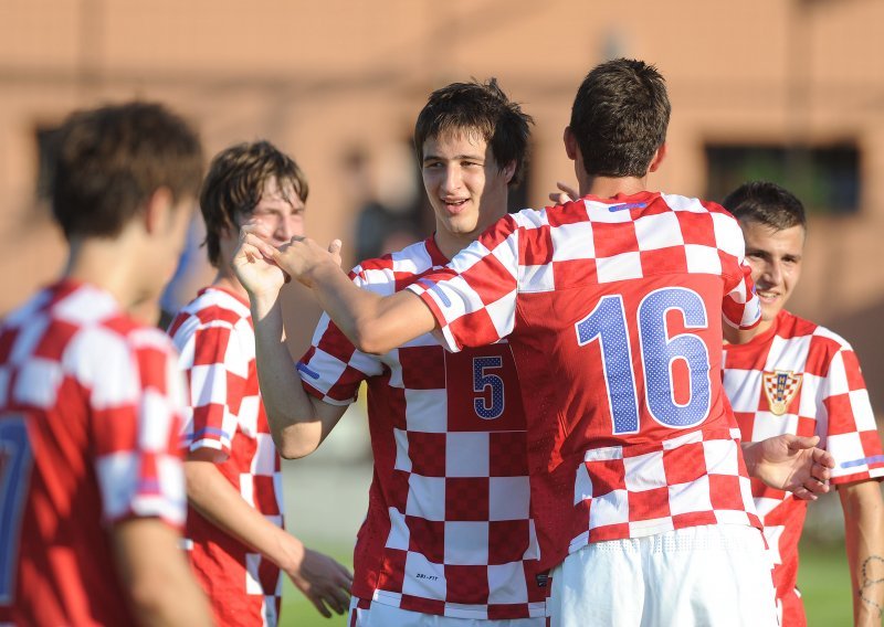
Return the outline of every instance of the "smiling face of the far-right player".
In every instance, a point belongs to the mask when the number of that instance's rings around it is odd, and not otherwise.
[[[753,281],[761,300],[761,326],[770,327],[786,306],[801,276],[804,253],[804,227],[776,230],[758,221],[740,220],[746,240],[746,261],[753,268]]]

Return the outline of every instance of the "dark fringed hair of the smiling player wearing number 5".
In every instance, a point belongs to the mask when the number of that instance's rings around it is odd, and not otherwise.
[[[528,137],[534,119],[523,113],[518,103],[506,97],[496,78],[487,83],[452,83],[430,94],[414,125],[414,149],[418,162],[423,161],[423,145],[448,134],[478,135],[491,146],[499,168],[515,162],[509,181],[517,184],[528,161]]]

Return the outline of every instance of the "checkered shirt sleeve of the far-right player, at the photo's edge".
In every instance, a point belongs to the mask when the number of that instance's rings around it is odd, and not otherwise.
[[[823,341],[814,336],[811,341]],[[813,378],[812,364],[804,376]],[[812,383],[812,380],[811,380]],[[841,346],[819,381],[817,428],[834,456],[833,483],[884,477],[884,451],[856,353]],[[803,414],[803,411],[801,411]]]

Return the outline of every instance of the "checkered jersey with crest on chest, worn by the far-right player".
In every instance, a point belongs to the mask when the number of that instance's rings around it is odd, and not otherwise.
[[[829,329],[780,311],[750,342],[725,347],[724,384],[746,442],[786,433],[818,435],[819,446],[835,458],[832,483],[884,477],[884,454],[860,363],[850,344]],[[802,624],[794,586],[807,501],[755,479],[753,493],[786,618]],[[790,616],[790,608],[798,614]]]

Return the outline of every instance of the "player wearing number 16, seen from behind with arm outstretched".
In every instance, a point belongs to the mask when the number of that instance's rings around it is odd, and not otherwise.
[[[454,352],[509,340],[540,565],[559,565],[554,624],[776,624],[718,370],[723,315],[749,328],[758,302],[736,221],[645,189],[669,114],[653,67],[594,68],[565,132],[583,198],[502,219],[394,295],[358,289],[308,240],[242,243],[313,287],[364,352],[433,330]],[[505,180],[436,200],[457,215]]]

